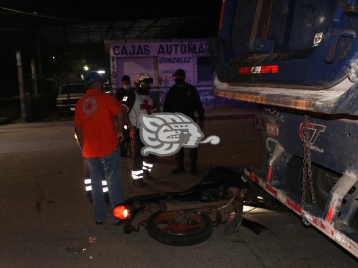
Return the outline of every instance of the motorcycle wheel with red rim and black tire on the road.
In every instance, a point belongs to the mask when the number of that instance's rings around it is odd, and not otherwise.
[[[189,220],[180,225],[173,222],[184,211],[157,212],[147,221],[148,234],[158,242],[170,246],[191,246],[204,242],[213,233],[213,223],[203,214],[192,212]]]

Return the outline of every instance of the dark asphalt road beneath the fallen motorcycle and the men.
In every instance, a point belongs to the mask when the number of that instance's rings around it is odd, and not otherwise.
[[[131,162],[123,158],[125,197],[183,190],[200,181],[208,164],[238,169],[259,164],[252,119],[208,121],[204,132],[219,135],[222,143],[200,145],[198,176],[171,176],[173,158],[158,159],[155,181],[137,189],[129,185]],[[110,220],[96,226],[72,122],[0,126],[0,268],[357,267],[355,257],[313,227],[303,227],[291,211],[254,209],[245,217],[268,229],[256,235],[240,227],[225,237],[220,226],[191,247],[160,244],[143,227],[125,235]],[[66,247],[86,250],[73,254]]]

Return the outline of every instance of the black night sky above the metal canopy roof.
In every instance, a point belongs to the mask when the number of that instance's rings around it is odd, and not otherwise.
[[[78,21],[132,21],[173,17],[219,18],[221,0],[102,0],[91,1],[13,1],[3,0],[0,6],[23,12]],[[71,21],[47,20],[35,16],[17,15],[0,10],[2,27],[31,27],[44,24],[57,25]]]

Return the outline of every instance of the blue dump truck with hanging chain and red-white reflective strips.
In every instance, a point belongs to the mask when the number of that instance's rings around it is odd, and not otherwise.
[[[217,96],[259,103],[244,177],[358,256],[358,0],[224,0]]]

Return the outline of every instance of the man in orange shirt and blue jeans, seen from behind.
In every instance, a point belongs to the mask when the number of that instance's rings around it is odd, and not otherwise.
[[[102,224],[107,215],[102,192],[103,174],[112,210],[123,202],[118,140],[123,140],[124,117],[117,100],[102,91],[103,79],[100,74],[90,72],[86,76],[86,86],[86,94],[75,107],[75,132],[89,168],[94,220],[96,224]],[[112,221],[113,225],[120,224],[114,217]]]

